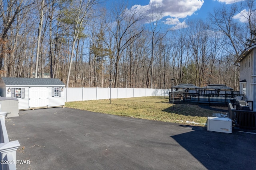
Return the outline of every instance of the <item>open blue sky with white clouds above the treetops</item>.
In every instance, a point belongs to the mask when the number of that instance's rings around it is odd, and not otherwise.
[[[186,26],[186,21],[201,18],[205,20],[209,12],[223,5],[229,6],[243,0],[129,0],[130,9],[140,9],[147,12],[150,5],[158,6],[163,12],[166,23],[173,27]],[[128,10],[130,10],[128,9]],[[240,19],[241,16],[236,16]]]

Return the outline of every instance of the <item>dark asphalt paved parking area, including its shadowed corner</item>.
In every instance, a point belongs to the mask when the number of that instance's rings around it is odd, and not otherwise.
[[[70,108],[6,118],[18,170],[256,169],[256,134],[184,126]]]

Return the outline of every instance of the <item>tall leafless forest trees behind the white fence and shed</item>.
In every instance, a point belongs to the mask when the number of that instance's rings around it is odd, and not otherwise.
[[[66,87],[166,89],[174,79],[238,90],[234,61],[255,43],[255,3],[223,5],[206,20],[173,26],[174,18],[164,20],[156,7],[143,12],[128,2],[3,0],[0,74],[48,75]]]

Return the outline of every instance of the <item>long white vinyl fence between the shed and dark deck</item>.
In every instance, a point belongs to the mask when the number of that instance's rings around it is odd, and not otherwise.
[[[171,89],[111,88],[111,99],[168,96]],[[68,87],[65,88],[65,102],[110,99],[110,88]]]

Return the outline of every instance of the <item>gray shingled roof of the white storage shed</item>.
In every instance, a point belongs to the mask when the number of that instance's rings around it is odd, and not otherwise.
[[[1,77],[5,85],[64,85],[60,79]]]

